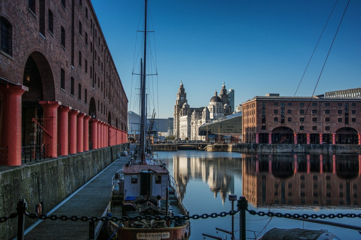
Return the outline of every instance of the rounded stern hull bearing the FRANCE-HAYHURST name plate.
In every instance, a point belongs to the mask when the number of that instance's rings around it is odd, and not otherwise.
[[[108,222],[107,229],[113,240],[186,240],[191,234],[189,222],[179,227],[171,228],[128,228],[119,227],[112,221]]]

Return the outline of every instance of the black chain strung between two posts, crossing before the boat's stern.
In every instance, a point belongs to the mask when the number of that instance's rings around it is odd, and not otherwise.
[[[82,216],[82,217],[78,217],[78,216],[71,216],[71,217],[68,217],[68,216],[65,216],[65,215],[62,215],[62,216],[57,216],[57,215],[50,215],[50,216],[47,216],[45,214],[41,214],[40,216],[36,215],[35,213],[27,213],[25,212],[25,215],[28,216],[29,218],[39,218],[39,219],[42,219],[42,220],[45,220],[45,219],[50,219],[50,220],[62,220],[62,221],[66,221],[66,220],[71,220],[71,221],[83,221],[83,222],[88,222],[88,221],[92,221],[92,222],[97,222],[97,221],[102,221],[102,222],[108,222],[108,221],[113,221],[113,222],[117,222],[117,221],[140,221],[142,219],[145,219],[145,220],[156,220],[156,221],[159,221],[159,220],[179,220],[179,219],[184,219],[184,220],[188,220],[188,219],[199,219],[199,218],[202,218],[202,219],[207,219],[207,218],[216,218],[216,217],[226,217],[227,215],[235,215],[236,213],[238,213],[239,210],[231,210],[229,212],[221,212],[221,213],[212,213],[212,214],[201,214],[201,215],[198,215],[198,214],[194,214],[192,216],[190,215],[183,215],[183,216],[151,216],[151,215],[146,215],[146,216],[136,216],[136,217],[126,217],[126,216],[123,216],[123,217],[87,217],[87,216]]]

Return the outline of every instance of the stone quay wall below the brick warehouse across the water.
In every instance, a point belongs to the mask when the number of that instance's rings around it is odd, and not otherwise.
[[[361,145],[347,144],[235,144],[235,145],[208,145],[207,151],[236,151],[241,153],[319,153],[361,154]]]

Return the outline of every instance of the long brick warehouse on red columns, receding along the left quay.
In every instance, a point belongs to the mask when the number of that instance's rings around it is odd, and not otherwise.
[[[90,0],[0,3],[0,165],[127,141],[127,97]],[[89,142],[91,144],[89,144]]]

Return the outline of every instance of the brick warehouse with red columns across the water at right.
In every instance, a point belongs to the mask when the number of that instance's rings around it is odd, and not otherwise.
[[[242,109],[244,142],[361,144],[361,98],[256,96]]]

